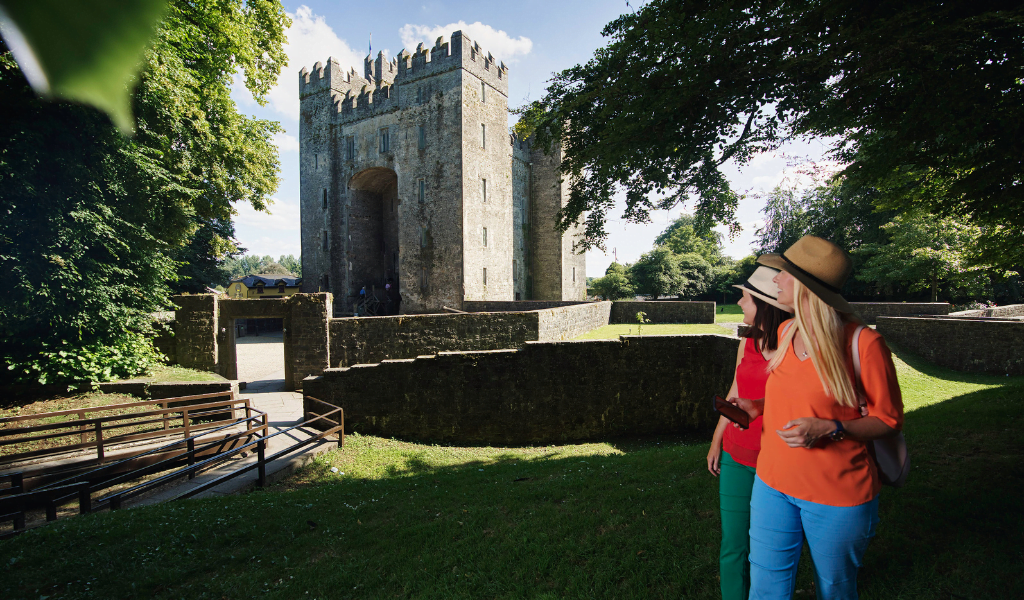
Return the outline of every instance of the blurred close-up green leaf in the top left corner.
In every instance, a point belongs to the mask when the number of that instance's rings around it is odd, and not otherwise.
[[[4,40],[37,92],[91,104],[123,131],[134,129],[131,88],[166,0],[0,4]]]

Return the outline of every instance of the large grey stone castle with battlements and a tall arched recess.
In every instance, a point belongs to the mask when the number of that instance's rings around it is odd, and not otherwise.
[[[462,32],[364,74],[328,58],[299,74],[302,291],[349,310],[398,286],[402,312],[465,300],[583,300],[580,234],[560,154],[508,132],[508,69]]]

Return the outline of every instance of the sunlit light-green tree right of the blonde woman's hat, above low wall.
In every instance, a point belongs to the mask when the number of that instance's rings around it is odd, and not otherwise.
[[[927,289],[932,302],[938,302],[941,285],[967,289],[977,297],[989,283],[986,268],[972,265],[979,227],[916,211],[895,217],[883,228],[889,234],[886,244],[865,244],[857,250],[866,259],[858,280]]]

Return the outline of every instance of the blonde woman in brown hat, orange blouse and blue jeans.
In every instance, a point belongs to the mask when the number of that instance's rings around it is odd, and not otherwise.
[[[805,235],[758,262],[780,270],[778,300],[795,308],[760,405],[761,453],[751,497],[752,600],[793,597],[806,538],[820,600],[857,598],[857,569],[879,520],[882,483],[867,442],[903,426],[903,400],[885,340],[861,329],[840,290],[852,263],[835,244]],[[861,404],[866,409],[862,416]]]

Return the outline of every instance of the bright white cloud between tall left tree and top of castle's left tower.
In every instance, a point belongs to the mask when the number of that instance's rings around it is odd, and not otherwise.
[[[292,27],[288,28],[288,41],[285,43],[288,67],[281,70],[278,84],[270,89],[267,99],[274,111],[297,120],[299,71],[303,67],[312,71],[316,62],[326,63],[328,57],[334,57],[341,62],[343,70],[353,67],[356,73],[362,73],[364,55],[335,35],[324,17],[313,14],[308,6],[299,6],[295,14],[289,13],[288,16],[292,18]],[[286,151],[284,146],[281,149]]]

